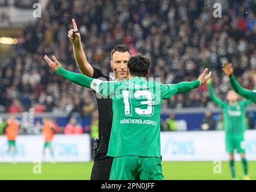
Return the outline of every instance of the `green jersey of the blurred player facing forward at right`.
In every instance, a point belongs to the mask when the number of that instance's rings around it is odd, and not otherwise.
[[[247,127],[245,107],[248,106],[251,101],[242,100],[234,105],[230,105],[227,101],[222,101],[215,95],[212,83],[207,84],[207,87],[212,101],[222,109],[225,132],[227,134],[243,134]]]

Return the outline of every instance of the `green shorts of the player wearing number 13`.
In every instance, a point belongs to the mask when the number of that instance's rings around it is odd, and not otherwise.
[[[158,157],[115,157],[110,180],[163,180],[162,164]]]

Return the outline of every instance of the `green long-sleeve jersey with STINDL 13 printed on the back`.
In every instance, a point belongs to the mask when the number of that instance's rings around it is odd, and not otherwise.
[[[113,122],[108,156],[160,157],[160,106],[162,99],[200,86],[200,81],[165,85],[134,77],[103,82],[58,68],[72,82],[112,99]]]

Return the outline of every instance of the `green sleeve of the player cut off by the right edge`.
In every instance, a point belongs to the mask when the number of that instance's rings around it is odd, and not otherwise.
[[[248,100],[251,100],[256,104],[256,90],[242,88],[242,86],[240,86],[239,83],[237,82],[236,77],[234,77],[234,75],[230,77],[230,84],[233,87],[234,91],[237,92],[237,94],[247,98]]]

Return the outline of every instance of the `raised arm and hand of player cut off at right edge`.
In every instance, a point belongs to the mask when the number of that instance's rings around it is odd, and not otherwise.
[[[256,104],[256,90],[249,90],[242,88],[239,83],[236,80],[236,77],[234,77],[234,69],[230,63],[227,61],[223,62],[222,64],[222,71],[230,77],[230,84],[233,87],[234,91],[236,91],[239,95],[242,95],[243,97],[247,98],[248,100],[251,100]],[[254,74],[254,80],[256,82],[256,76]]]

